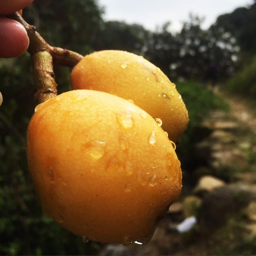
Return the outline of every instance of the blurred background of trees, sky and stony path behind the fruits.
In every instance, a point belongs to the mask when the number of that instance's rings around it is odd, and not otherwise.
[[[143,246],[84,244],[44,217],[26,163],[30,56],[1,59],[0,255],[256,254],[256,1],[130,2],[35,0],[23,17],[51,45],[134,52],[177,84],[190,118],[179,200]],[[54,71],[70,90],[70,69]]]

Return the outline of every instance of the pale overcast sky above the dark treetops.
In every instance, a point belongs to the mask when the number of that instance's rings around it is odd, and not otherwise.
[[[189,13],[204,17],[203,28],[208,28],[223,13],[252,4],[253,0],[99,0],[105,6],[105,20],[139,23],[154,30],[171,21],[170,29],[178,31]]]

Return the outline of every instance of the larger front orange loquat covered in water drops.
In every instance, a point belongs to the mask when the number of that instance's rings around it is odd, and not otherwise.
[[[75,90],[38,105],[27,159],[44,214],[102,243],[149,241],[182,186],[162,128],[104,92]]]

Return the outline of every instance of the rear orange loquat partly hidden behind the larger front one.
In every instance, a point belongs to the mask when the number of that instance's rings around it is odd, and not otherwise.
[[[169,139],[177,142],[188,124],[188,111],[167,76],[142,56],[108,50],[86,55],[72,70],[72,89],[108,92],[163,121]]]

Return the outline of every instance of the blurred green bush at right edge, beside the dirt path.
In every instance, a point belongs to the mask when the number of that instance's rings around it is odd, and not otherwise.
[[[256,97],[256,56],[249,65],[231,78],[225,88],[231,92],[242,94],[246,97]]]

